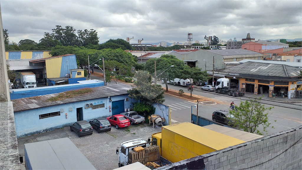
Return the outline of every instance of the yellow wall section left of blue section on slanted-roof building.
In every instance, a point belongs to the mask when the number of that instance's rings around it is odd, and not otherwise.
[[[48,79],[60,77],[61,63],[62,57],[45,60]]]

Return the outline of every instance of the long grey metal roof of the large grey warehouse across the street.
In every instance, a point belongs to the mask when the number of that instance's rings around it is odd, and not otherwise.
[[[251,50],[244,50],[244,49],[221,49],[221,50],[206,50],[209,51],[211,53],[215,53],[215,54],[219,54],[222,56],[233,56],[233,55],[256,55],[256,54],[260,54],[262,56],[264,56],[264,54],[262,53],[258,53],[255,51],[251,51]]]

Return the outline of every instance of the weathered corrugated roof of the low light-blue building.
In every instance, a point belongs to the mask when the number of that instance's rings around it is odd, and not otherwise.
[[[40,97],[27,97],[27,98],[15,99],[11,101],[13,102],[14,112],[16,112],[16,111],[30,110],[30,109],[46,107],[46,106],[53,106],[63,103],[71,103],[71,102],[78,102],[78,101],[84,101],[90,99],[98,99],[108,96],[128,94],[127,90],[129,90],[129,87],[123,84],[107,84],[107,86],[93,87],[91,89],[93,90],[92,92],[86,93],[84,95],[79,95],[77,97],[60,100],[60,101],[52,101],[52,102],[46,101],[47,99],[53,96],[57,96],[60,93],[47,94]]]

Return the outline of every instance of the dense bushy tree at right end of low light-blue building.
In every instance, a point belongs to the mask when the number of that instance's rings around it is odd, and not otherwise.
[[[151,83],[152,76],[143,70],[139,70],[135,74],[133,88],[128,90],[129,97],[151,106],[153,103],[162,104],[164,100],[164,90]]]

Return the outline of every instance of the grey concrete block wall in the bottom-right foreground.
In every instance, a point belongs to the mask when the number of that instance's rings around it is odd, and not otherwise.
[[[205,169],[302,169],[302,126],[201,155]]]

